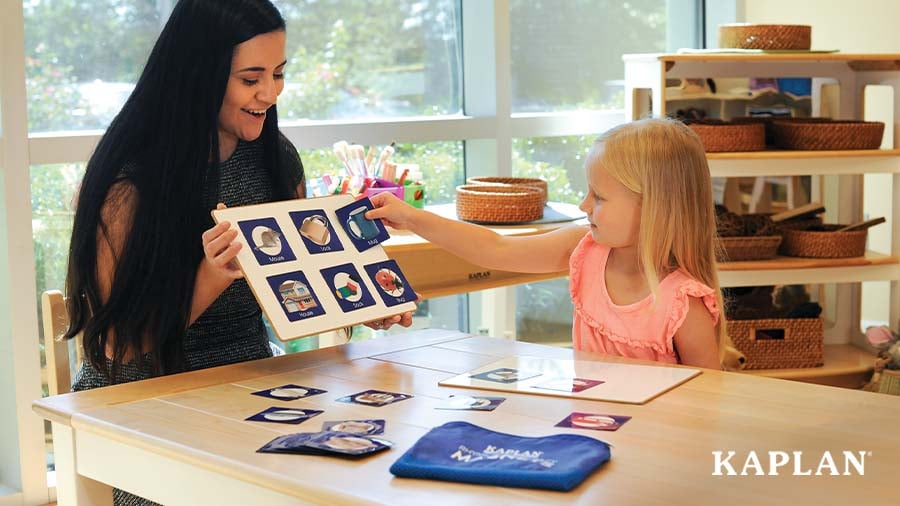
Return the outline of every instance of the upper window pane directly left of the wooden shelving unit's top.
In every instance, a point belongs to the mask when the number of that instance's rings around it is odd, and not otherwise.
[[[666,48],[666,0],[510,0],[513,112],[622,109],[622,54]]]

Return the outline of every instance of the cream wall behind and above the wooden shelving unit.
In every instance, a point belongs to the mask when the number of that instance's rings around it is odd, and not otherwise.
[[[813,49],[839,49],[844,53],[900,53],[898,0],[738,0],[737,10],[739,21],[746,23],[811,25]],[[895,96],[894,101],[900,101],[900,97]],[[895,132],[898,131],[898,120],[900,118],[894,118]],[[895,143],[895,147],[900,146]],[[865,176],[865,214],[870,217],[891,216],[892,177],[900,176]],[[900,202],[894,205],[900,205]],[[890,253],[890,239],[888,226],[873,228],[869,231],[869,248]],[[887,321],[889,288],[888,282],[863,283],[864,321]]]

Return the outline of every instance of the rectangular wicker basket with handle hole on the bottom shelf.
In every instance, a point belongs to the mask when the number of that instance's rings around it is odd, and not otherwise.
[[[821,318],[728,320],[728,335],[747,357],[747,369],[819,367],[824,352]]]

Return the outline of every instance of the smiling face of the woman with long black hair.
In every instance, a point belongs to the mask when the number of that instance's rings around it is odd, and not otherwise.
[[[257,35],[238,44],[231,59],[225,99],[219,109],[219,144],[231,153],[238,139],[262,134],[266,111],[284,89],[285,33]],[[230,149],[227,149],[230,148]]]

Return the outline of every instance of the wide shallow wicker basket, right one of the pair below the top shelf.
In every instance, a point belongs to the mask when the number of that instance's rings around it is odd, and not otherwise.
[[[878,149],[884,123],[878,121],[775,121],[775,144],[784,149]]]

